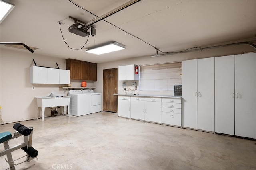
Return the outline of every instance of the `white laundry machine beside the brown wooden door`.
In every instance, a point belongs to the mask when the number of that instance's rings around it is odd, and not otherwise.
[[[91,113],[96,113],[102,111],[101,108],[101,93],[95,93],[92,89],[86,89],[82,91],[83,94],[90,95],[90,107]]]

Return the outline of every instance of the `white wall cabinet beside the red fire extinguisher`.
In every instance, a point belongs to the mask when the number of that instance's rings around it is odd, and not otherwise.
[[[119,66],[118,80],[139,80],[139,74],[135,74],[135,65]]]

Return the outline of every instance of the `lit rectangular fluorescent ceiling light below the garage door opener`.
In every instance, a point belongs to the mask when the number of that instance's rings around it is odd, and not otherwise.
[[[93,49],[88,49],[86,52],[100,55],[100,54],[110,53],[113,51],[118,51],[123,49],[125,49],[124,45],[118,42],[114,42],[114,43],[110,43],[110,44],[96,47]]]

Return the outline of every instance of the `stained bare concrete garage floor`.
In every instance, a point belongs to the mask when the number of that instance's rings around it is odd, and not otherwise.
[[[34,127],[32,146],[39,159],[17,165],[16,170],[256,169],[256,141],[125,119],[115,113],[58,115],[44,122],[20,123]],[[14,132],[13,125],[0,125],[1,132]],[[13,139],[9,145],[22,140]],[[0,147],[3,150],[3,144]],[[19,149],[12,155],[15,160],[25,152]],[[0,158],[1,170],[9,167],[5,158]]]

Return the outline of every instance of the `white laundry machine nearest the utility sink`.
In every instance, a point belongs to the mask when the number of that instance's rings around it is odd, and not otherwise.
[[[82,116],[91,113],[90,94],[83,93],[82,90],[69,90],[70,115]]]

